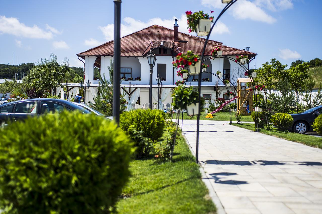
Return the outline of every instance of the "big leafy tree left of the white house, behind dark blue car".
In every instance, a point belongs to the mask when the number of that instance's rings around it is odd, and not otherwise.
[[[51,89],[55,92],[56,90],[54,89],[65,82],[65,77],[68,73],[69,63],[66,58],[61,64],[57,62],[57,56],[54,54],[50,55],[50,59],[41,59],[24,79],[27,94],[28,91],[32,91],[33,94],[39,96],[39,94],[51,91]]]

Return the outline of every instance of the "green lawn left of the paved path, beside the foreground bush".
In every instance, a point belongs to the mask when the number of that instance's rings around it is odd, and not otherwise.
[[[117,204],[119,213],[215,213],[188,145],[180,135],[173,162],[151,157],[130,163],[132,176]]]

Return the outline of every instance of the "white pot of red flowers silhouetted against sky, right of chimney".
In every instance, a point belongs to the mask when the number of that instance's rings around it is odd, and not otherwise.
[[[211,11],[212,13],[213,11]],[[188,30],[189,32],[196,32],[198,36],[208,36],[211,28],[211,22],[213,22],[213,16],[209,16],[202,10],[192,13],[191,11],[185,12],[187,16]]]

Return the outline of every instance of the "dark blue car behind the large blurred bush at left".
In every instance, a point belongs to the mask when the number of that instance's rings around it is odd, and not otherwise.
[[[18,100],[0,105],[0,125],[8,120],[24,120],[27,117],[39,117],[50,112],[81,111],[85,114],[91,112],[70,101],[49,98]]]

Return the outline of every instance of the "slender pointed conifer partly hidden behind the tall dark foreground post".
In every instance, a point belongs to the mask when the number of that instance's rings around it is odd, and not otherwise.
[[[110,59],[110,66],[107,67],[109,69],[109,79],[105,78],[105,74],[99,76],[99,81],[101,85],[98,87],[98,96],[94,97],[95,104],[93,108],[106,114],[107,116],[113,115],[113,61]],[[120,96],[120,112],[125,111],[124,104],[126,103],[122,94]]]

